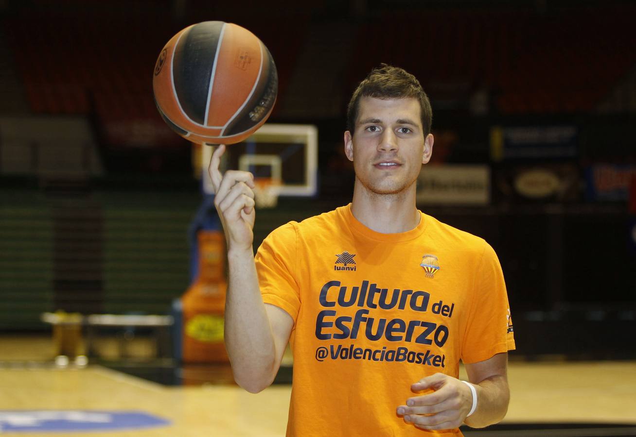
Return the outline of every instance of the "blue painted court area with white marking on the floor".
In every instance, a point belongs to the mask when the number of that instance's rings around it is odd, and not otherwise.
[[[0,410],[0,433],[59,433],[167,426],[169,420],[137,411]]]

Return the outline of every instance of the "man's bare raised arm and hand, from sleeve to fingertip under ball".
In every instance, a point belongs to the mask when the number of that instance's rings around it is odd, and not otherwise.
[[[219,145],[212,154],[209,173],[228,245],[225,346],[237,384],[258,393],[272,384],[279,370],[293,319],[279,307],[263,303],[252,249],[253,176],[232,170],[221,175],[223,152],[225,145]]]

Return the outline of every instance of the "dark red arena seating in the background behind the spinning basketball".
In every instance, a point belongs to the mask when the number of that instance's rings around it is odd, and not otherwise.
[[[206,19],[223,20],[196,18]],[[247,15],[242,21],[234,20],[259,36],[272,52],[279,72],[279,97],[303,42],[303,19],[307,17],[296,17],[293,22],[285,17],[280,22],[263,22]],[[125,135],[109,137],[108,133],[131,121],[137,123],[135,126],[149,123],[151,130],[159,132],[148,138],[149,144],[156,140],[156,145],[165,145],[166,137],[168,142],[178,142],[156,111],[151,79],[161,48],[186,24],[170,22],[169,17],[157,12],[104,14],[81,8],[22,11],[5,18],[3,24],[32,112],[94,113],[106,131],[107,143],[118,144],[122,137],[124,141],[130,138],[128,132],[135,127],[128,126]],[[293,38],[276,31],[283,24]]]

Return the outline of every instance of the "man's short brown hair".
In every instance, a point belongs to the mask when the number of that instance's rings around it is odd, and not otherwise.
[[[431,133],[432,109],[429,97],[412,74],[399,67],[380,64],[357,86],[347,106],[347,130],[354,134],[361,97],[417,98],[420,102],[424,137]]]

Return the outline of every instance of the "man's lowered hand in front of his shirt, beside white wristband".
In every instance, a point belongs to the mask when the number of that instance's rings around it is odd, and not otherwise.
[[[443,373],[435,373],[411,385],[415,392],[426,389],[434,392],[408,398],[406,405],[397,407],[397,414],[422,429],[459,427],[473,407],[471,389],[459,379]]]

